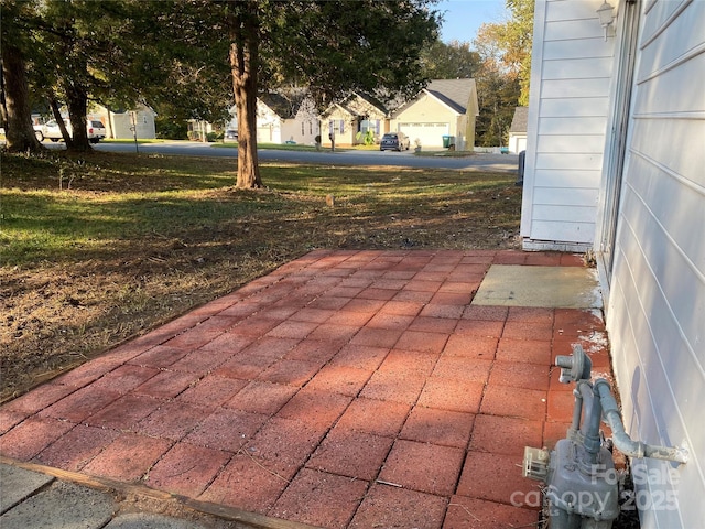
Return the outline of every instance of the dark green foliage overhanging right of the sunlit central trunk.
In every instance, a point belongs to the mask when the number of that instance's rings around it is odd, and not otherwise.
[[[415,95],[425,85],[421,54],[437,36],[434,2],[263,2],[262,62],[270,78],[310,86],[323,106],[354,90]]]

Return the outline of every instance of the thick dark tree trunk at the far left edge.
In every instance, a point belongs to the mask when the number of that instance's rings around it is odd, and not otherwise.
[[[7,43],[2,43],[2,79],[7,109],[8,151],[41,151],[43,147],[34,136],[32,127],[32,110],[22,52]]]

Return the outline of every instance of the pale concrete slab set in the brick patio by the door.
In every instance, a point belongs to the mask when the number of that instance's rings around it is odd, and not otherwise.
[[[473,305],[600,309],[597,270],[582,267],[492,264]]]

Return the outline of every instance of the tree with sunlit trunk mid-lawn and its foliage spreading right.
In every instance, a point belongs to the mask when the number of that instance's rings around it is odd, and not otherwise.
[[[420,61],[437,35],[434,0],[225,2],[238,111],[238,187],[262,185],[257,163],[258,90],[282,82],[308,86],[322,104],[352,90],[414,94]],[[354,9],[351,9],[354,7]],[[265,74],[265,75],[264,75]]]

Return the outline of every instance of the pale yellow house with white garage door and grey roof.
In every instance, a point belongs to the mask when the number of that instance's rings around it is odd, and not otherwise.
[[[392,114],[390,130],[431,148],[443,147],[443,137],[453,136],[457,150],[473,150],[478,109],[475,79],[435,79]]]

